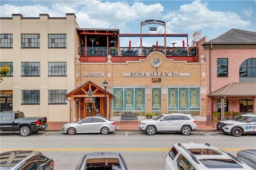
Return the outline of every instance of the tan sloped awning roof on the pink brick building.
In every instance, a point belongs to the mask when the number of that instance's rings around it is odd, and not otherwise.
[[[230,83],[209,95],[209,97],[244,96],[256,96],[256,83]]]

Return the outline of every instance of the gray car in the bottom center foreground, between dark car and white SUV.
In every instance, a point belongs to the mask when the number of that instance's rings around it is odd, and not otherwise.
[[[121,154],[115,152],[94,152],[85,154],[76,170],[127,170],[128,166]]]

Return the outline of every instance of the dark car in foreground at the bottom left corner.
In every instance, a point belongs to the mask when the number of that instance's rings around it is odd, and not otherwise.
[[[0,170],[54,170],[54,160],[33,150],[3,152],[0,161]]]

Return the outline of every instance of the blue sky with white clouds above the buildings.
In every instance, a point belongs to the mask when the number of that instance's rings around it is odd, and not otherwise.
[[[228,30],[256,31],[256,0],[251,1],[0,1],[1,17],[20,13],[24,17],[66,16],[75,13],[80,28],[114,28],[120,33],[140,33],[140,22],[162,20],[166,33],[188,33],[189,45],[193,33],[201,31],[201,37],[217,38]],[[149,31],[157,27],[157,31]],[[160,25],[142,27],[142,33],[163,33]],[[140,38],[121,38],[120,46],[140,46]],[[184,38],[168,38],[167,46],[182,46]],[[164,45],[163,38],[143,38],[143,46]]]

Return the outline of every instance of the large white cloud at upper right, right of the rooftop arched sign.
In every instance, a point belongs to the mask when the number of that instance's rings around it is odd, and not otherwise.
[[[181,5],[178,11],[169,12],[170,21],[167,22],[167,25],[170,25],[170,29],[195,30],[206,27],[216,29],[246,27],[251,24],[250,21],[241,19],[241,16],[236,13],[211,11],[207,5],[201,1]],[[165,16],[165,18],[168,17]]]

